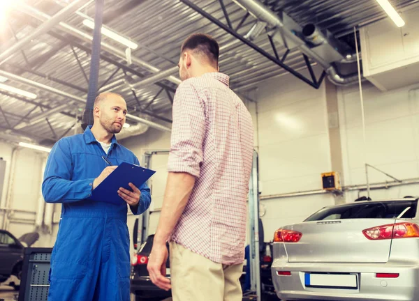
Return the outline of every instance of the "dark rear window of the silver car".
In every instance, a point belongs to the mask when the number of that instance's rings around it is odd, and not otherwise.
[[[395,219],[409,207],[402,218],[413,218],[416,216],[417,206],[418,201],[350,203],[344,206],[323,208],[311,215],[305,222],[331,219]]]

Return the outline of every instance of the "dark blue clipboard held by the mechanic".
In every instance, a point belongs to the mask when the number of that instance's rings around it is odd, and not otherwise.
[[[126,203],[121,196],[118,195],[119,187],[124,187],[131,191],[128,183],[133,183],[135,187],[140,188],[156,171],[145,169],[135,164],[122,162],[110,173],[92,192],[89,199],[93,201],[102,201],[121,205]]]

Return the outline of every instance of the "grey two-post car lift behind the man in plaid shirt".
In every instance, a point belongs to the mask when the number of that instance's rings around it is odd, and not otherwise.
[[[169,151],[156,150],[156,151],[147,151],[142,155],[142,167],[151,168],[152,166],[152,157],[153,155],[168,155]],[[150,180],[147,181],[149,185]],[[258,153],[253,151],[253,164],[251,169],[251,177],[249,180],[249,204],[248,204],[248,215],[249,215],[249,233],[250,233],[250,252],[249,258],[250,263],[250,274],[251,274],[251,286],[250,291],[247,291],[244,295],[243,300],[255,300],[261,301],[261,290],[260,290],[260,256],[259,256],[259,179],[258,179]],[[150,187],[150,185],[149,185]],[[150,187],[152,189],[152,187]],[[138,245],[141,245],[149,236],[148,226],[149,226],[149,215],[150,210],[147,210],[142,214],[141,219],[138,217],[140,226],[140,241],[137,242]]]

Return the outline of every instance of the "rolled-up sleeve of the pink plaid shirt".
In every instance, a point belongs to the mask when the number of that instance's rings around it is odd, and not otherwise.
[[[177,88],[173,100],[168,171],[200,176],[205,131],[205,102],[196,88],[184,82]]]

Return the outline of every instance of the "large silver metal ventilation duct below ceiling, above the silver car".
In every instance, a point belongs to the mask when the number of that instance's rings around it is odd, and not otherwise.
[[[314,59],[328,72],[330,82],[336,85],[353,84],[358,80],[355,74],[341,75],[333,63],[353,63],[355,56],[348,46],[337,40],[332,33],[320,31],[314,24],[304,29],[284,12],[274,13],[258,0],[234,0],[258,20],[266,22],[269,29],[275,29],[272,38],[288,49],[299,49]]]

